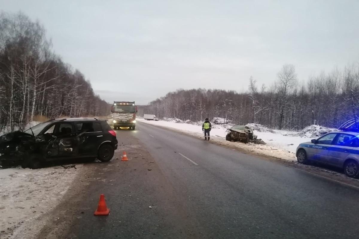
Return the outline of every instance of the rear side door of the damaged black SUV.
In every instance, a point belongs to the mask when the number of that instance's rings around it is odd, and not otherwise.
[[[97,149],[103,141],[102,126],[99,122],[77,122],[76,129],[85,131],[80,139],[79,154],[82,156],[95,156]]]

